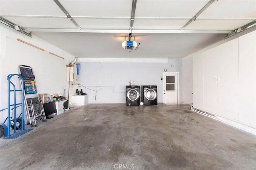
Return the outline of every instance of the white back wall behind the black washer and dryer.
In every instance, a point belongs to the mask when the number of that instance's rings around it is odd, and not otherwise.
[[[168,72],[181,72],[181,59],[169,59],[168,63],[81,63],[78,83],[89,94],[89,103],[125,103],[125,86],[129,81],[135,85],[157,85],[158,102],[163,102],[164,69]],[[172,65],[172,66],[171,66]],[[180,80],[181,88],[181,80]],[[181,90],[180,90],[181,91]],[[181,92],[180,92],[181,94]]]

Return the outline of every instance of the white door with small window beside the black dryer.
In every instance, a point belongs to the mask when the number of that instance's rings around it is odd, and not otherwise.
[[[177,72],[164,72],[164,104],[178,104]]]

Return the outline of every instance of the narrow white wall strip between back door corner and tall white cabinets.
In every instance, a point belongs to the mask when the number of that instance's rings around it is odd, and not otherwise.
[[[193,92],[193,57],[184,57],[181,62],[181,103],[190,104]]]

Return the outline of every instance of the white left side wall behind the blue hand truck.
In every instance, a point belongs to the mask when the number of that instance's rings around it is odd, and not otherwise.
[[[1,50],[0,50],[0,109],[7,107],[7,76],[8,74],[18,74],[20,64],[31,66],[36,77],[38,93],[63,94],[66,83],[66,64],[74,57],[62,49],[51,45],[39,37],[28,37],[14,29],[0,24]],[[45,51],[36,49],[30,45],[17,41],[21,39],[32,45],[36,45]],[[49,52],[64,57],[64,59],[49,54]],[[13,77],[16,89],[21,89],[17,77]],[[74,90],[74,89],[73,89]],[[16,102],[20,102],[20,94],[17,92]],[[20,113],[20,111],[19,111]],[[24,115],[25,112],[24,112]],[[7,111],[0,113],[1,123],[7,117]],[[26,121],[26,118],[25,118]]]

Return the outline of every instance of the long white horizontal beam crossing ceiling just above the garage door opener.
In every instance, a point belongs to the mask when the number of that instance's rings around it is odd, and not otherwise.
[[[56,28],[24,28],[33,32],[71,32],[71,33],[130,33],[129,29],[56,29]],[[234,30],[132,30],[132,33],[230,33]]]

